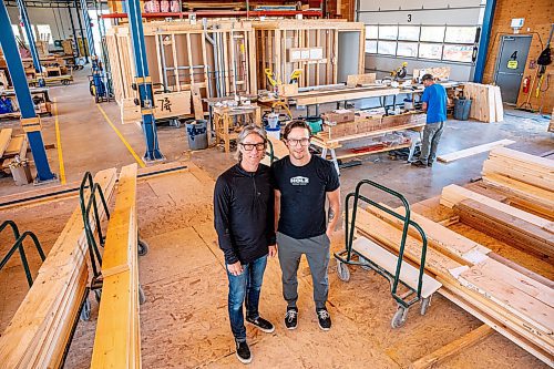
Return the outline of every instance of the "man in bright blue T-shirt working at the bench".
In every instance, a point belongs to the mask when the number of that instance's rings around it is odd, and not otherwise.
[[[423,140],[421,143],[421,154],[419,160],[412,165],[420,167],[432,166],[437,158],[437,147],[444,131],[447,121],[447,90],[440,84],[434,83],[431,74],[424,74],[421,78],[425,90],[421,96],[423,111],[427,112],[427,124],[423,129]]]

